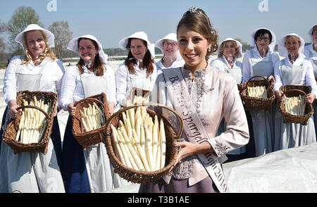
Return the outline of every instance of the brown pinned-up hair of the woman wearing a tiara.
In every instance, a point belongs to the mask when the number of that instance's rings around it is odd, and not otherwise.
[[[208,61],[209,56],[218,49],[218,35],[211,26],[208,15],[200,8],[190,8],[189,11],[182,15],[182,19],[178,23],[177,34],[182,25],[185,25],[189,30],[198,32],[211,44],[211,50],[207,50],[206,54],[206,61]]]

